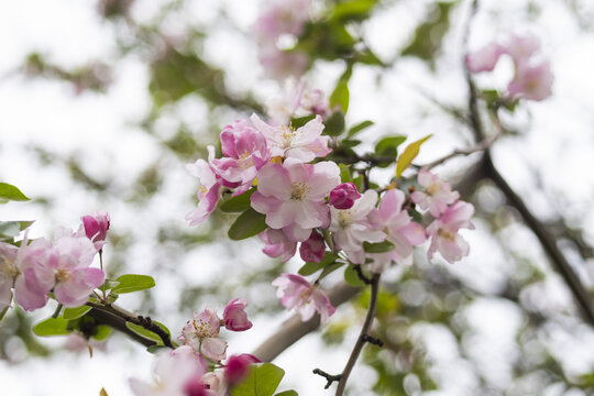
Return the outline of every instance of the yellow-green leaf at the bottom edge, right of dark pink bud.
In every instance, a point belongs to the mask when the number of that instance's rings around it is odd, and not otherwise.
[[[231,396],[273,396],[285,372],[272,363],[254,364],[245,381],[231,389]]]

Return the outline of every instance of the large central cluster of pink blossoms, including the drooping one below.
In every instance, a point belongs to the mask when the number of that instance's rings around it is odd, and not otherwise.
[[[186,216],[190,226],[204,221],[217,207],[223,191],[251,194],[253,210],[265,216],[267,229],[260,238],[264,253],[287,261],[299,246],[306,262],[321,262],[330,251],[342,252],[352,264],[383,272],[391,263],[409,264],[413,248],[431,240],[429,258],[436,252],[449,262],[469,253],[460,229],[472,229],[472,205],[460,201],[448,183],[429,170],[418,174],[421,189],[408,198],[388,188],[382,196],[370,189],[360,194],[352,183],[341,183],[340,168],[327,156],[329,136],[316,116],[304,127],[274,125],[252,116],[221,132],[222,158],[209,147],[208,162],[198,160],[188,169],[200,179],[199,205]],[[257,183],[255,183],[257,182]],[[432,221],[427,228],[413,221],[409,210],[418,206]],[[365,251],[365,243],[385,243],[381,253]],[[274,280],[278,297],[304,320],[317,310],[322,319],[334,312],[328,297],[299,275],[283,274]]]

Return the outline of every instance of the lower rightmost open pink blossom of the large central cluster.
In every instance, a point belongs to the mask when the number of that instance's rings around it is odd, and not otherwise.
[[[431,237],[431,245],[427,255],[432,260],[436,252],[441,253],[443,258],[454,263],[469,254],[469,243],[460,237],[460,229],[474,230],[470,221],[474,213],[474,207],[464,201],[457,201],[446,209],[441,218],[433,220],[427,227],[427,233]]]

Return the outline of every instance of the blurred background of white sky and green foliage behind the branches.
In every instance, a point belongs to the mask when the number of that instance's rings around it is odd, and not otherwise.
[[[510,33],[534,34],[551,62],[553,96],[501,114],[507,133],[493,161],[592,297],[592,1],[480,1],[466,36],[469,1],[312,0],[305,30],[278,43],[300,61],[280,66],[260,62],[262,41],[254,33],[270,4],[1,2],[0,180],[33,200],[0,206],[0,218],[35,220],[30,237],[47,238],[58,226],[75,228],[81,216],[108,211],[108,275],[156,280],[151,293],[122,296],[121,306],[177,334],[195,310],[246,297],[254,327],[228,340],[229,352],[250,352],[290,316],[271,280],[302,263],[265,256],[257,239],[231,242],[231,215],[216,211],[188,227],[184,216],[196,205],[197,180],[185,164],[206,157],[223,125],[263,114],[271,100],[290,95],[287,75],[305,74],[309,88],[330,96],[346,65],[353,67],[346,125],[375,122],[356,151],[386,134],[432,133],[417,158],[429,163],[472,144],[457,117],[468,111],[465,41],[475,50]],[[504,64],[476,85],[503,89],[510,74]],[[464,180],[479,158],[455,158],[436,172]],[[592,323],[502,191],[486,178],[471,180],[461,189],[476,208],[476,230],[463,233],[470,256],[428,263],[425,246],[411,267],[384,276],[374,331],[386,344],[366,346],[349,394],[594,394]],[[363,293],[341,306],[275,361],[286,371],[283,388],[333,394],[311,370],[342,370],[367,299]],[[94,344],[92,359],[74,336],[34,336],[33,323],[54,308],[12,309],[0,322],[2,394],[97,395],[105,387],[111,396],[129,395],[129,377],[150,377],[153,355],[121,334]]]

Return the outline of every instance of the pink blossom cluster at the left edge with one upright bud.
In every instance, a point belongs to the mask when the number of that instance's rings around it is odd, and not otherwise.
[[[14,246],[0,242],[0,310],[14,300],[28,311],[45,306],[53,292],[64,307],[84,305],[103,283],[105,274],[90,265],[103,248],[109,229],[105,212],[85,216],[80,228],[59,230],[52,241],[37,239]]]

